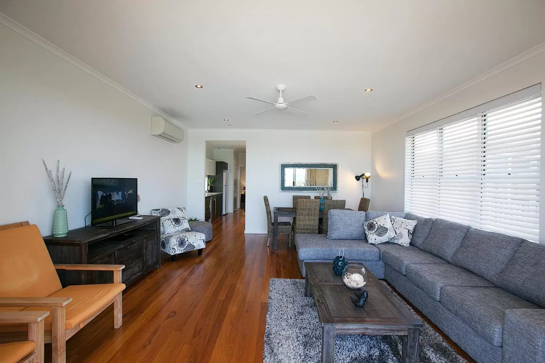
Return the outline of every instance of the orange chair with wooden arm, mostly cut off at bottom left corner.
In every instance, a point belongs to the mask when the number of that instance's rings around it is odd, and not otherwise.
[[[28,340],[0,344],[0,362],[44,361],[44,318],[49,311],[0,312],[0,324],[28,324]]]

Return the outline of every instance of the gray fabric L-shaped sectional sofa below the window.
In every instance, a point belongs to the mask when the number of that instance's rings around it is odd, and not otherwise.
[[[296,235],[303,276],[304,262],[332,261],[344,248],[477,362],[545,362],[545,245],[412,213],[329,213],[329,237],[359,239]],[[361,236],[362,220],[386,213],[418,221],[409,247]]]

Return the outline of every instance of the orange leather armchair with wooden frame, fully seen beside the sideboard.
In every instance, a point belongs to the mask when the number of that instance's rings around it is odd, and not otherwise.
[[[22,226],[20,226],[22,224]],[[114,305],[113,327],[123,323],[121,270],[124,265],[53,264],[38,226],[28,222],[0,226],[0,311],[47,310],[45,342],[52,343],[53,363],[66,361],[66,340],[100,312]],[[63,288],[56,269],[111,270],[113,284]],[[0,327],[0,333],[26,327]],[[23,333],[24,334],[24,333]]]

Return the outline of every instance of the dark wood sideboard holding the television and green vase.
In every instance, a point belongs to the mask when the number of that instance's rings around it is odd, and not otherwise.
[[[65,237],[44,237],[53,263],[124,264],[127,286],[161,266],[161,218],[141,216],[115,227],[88,226]],[[63,287],[113,282],[111,271],[57,270]]]

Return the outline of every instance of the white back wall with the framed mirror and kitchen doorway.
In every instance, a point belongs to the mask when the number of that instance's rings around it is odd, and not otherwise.
[[[371,170],[371,135],[364,132],[191,130],[187,208],[189,214],[201,219],[204,218],[202,160],[206,140],[246,141],[247,233],[267,232],[263,195],[275,207],[291,206],[292,195],[301,193],[280,192],[280,163],[338,163],[339,192],[334,198],[346,199],[347,207],[354,209],[361,198],[361,181],[356,182],[354,175]],[[371,195],[371,187],[365,194]]]

